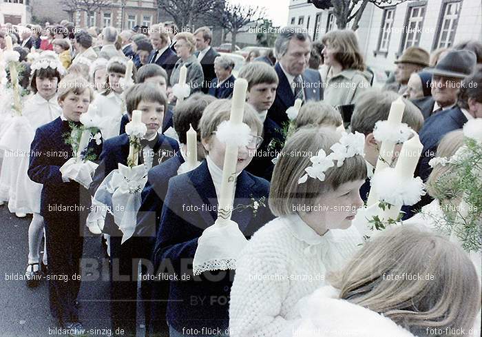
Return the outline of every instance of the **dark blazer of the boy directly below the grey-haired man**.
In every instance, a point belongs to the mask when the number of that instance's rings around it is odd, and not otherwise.
[[[284,145],[284,134],[282,127],[273,119],[266,116],[263,123],[263,141],[256,152],[253,160],[246,167],[246,170],[254,176],[260,176],[271,181],[275,164],[273,159],[282,150]]]

